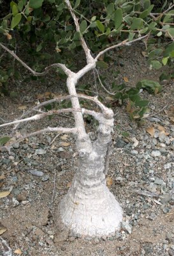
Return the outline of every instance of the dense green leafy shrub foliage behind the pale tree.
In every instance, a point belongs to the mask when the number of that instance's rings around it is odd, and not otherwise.
[[[27,64],[40,72],[47,63],[64,63],[73,70],[74,58],[81,49],[80,33],[96,54],[110,45],[145,36],[145,56],[149,68],[159,69],[165,65],[173,68],[174,57],[174,4],[172,1],[118,0],[118,1],[71,1],[80,22],[80,32],[75,29],[69,10],[62,0],[19,0],[10,2],[10,12],[4,8],[0,22],[0,42],[18,54],[22,47],[27,49],[30,61]],[[2,3],[3,6],[3,3]],[[4,4],[7,6],[7,3]],[[2,12],[2,11],[1,11]],[[2,13],[1,13],[2,15]],[[11,56],[4,58],[1,49],[0,85],[8,93],[6,83],[11,76],[19,79],[20,72],[11,63]],[[108,55],[98,61],[98,68],[108,68]],[[60,76],[64,74],[61,70]],[[161,74],[160,81],[174,77],[174,72]],[[103,77],[101,77],[102,80]],[[105,83],[105,81],[103,81]],[[125,84],[112,84],[115,99],[127,100],[134,118],[145,113],[147,100],[139,92],[143,88],[150,93],[161,92],[157,81],[143,80],[136,88]]]

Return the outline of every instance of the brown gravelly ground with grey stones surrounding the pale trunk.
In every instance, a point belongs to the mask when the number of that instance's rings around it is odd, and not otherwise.
[[[114,61],[122,61],[124,66],[117,81],[127,77],[127,84],[134,86],[140,79],[157,80],[161,70],[149,70],[141,51],[143,48],[134,45],[113,52],[114,60],[105,71],[108,83],[115,79],[112,71],[118,70]],[[91,74],[80,82],[85,81],[93,83]],[[66,93],[64,83],[57,82],[54,76],[47,77],[42,86],[41,81],[10,86],[18,96],[1,97],[0,116],[4,120],[18,118],[22,109],[31,108],[45,92]],[[91,86],[92,91],[95,89]],[[108,96],[99,88],[98,92]],[[42,96],[38,96],[40,93]],[[115,237],[83,241],[55,227],[57,205],[77,168],[73,136],[61,134],[52,142],[55,134],[40,134],[15,143],[8,150],[2,148],[0,187],[11,193],[0,201],[0,232],[7,229],[0,237],[4,246],[0,255],[5,256],[4,241],[16,252],[14,255],[174,255],[174,118],[170,117],[174,116],[173,95],[173,81],[164,84],[159,95],[143,92],[150,100],[150,117],[140,123],[129,119],[125,106],[113,107],[115,126],[108,176],[112,179],[110,190],[124,211],[122,228]],[[48,125],[71,127],[73,123],[71,116],[60,115],[29,122],[18,131],[25,134]],[[86,129],[95,136],[95,124],[89,120]],[[8,134],[10,127],[1,129],[1,136]]]

